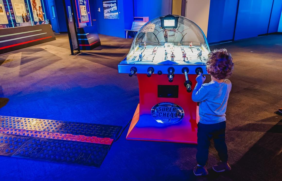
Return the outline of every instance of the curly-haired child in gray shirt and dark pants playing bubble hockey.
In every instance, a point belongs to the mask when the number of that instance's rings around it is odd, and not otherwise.
[[[226,49],[214,50],[209,54],[206,65],[208,74],[211,75],[211,82],[203,84],[206,76],[202,76],[202,73],[196,78],[197,84],[192,92],[192,100],[200,102],[196,155],[198,164],[194,168],[196,176],[208,174],[205,165],[208,160],[211,139],[214,141],[214,147],[221,160],[213,166],[213,170],[216,172],[231,170],[227,162],[228,155],[225,143],[225,112],[231,91],[231,82],[225,78],[230,77],[233,72],[232,60],[233,58]]]

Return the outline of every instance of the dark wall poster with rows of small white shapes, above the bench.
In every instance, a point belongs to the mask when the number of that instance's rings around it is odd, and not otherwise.
[[[103,1],[104,19],[119,19],[118,0]]]

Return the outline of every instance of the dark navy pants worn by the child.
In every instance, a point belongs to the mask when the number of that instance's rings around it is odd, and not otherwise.
[[[213,139],[214,147],[219,159],[227,162],[227,146],[225,143],[225,121],[215,124],[198,123],[198,146],[196,159],[199,165],[204,166],[208,160],[210,140]]]

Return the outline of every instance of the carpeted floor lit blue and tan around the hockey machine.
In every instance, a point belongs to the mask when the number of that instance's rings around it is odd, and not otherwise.
[[[126,126],[138,104],[136,76],[118,74],[132,39],[100,35],[102,46],[69,56],[66,34],[0,55],[0,115]],[[0,156],[4,180],[281,180],[282,35],[218,44],[235,71],[226,112],[232,170],[195,177],[195,145],[128,141],[128,127],[98,169]]]

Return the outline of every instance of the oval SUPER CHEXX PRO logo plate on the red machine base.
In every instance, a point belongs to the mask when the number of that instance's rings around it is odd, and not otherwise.
[[[151,116],[158,123],[174,124],[183,119],[184,110],[177,104],[163,102],[152,107]]]

